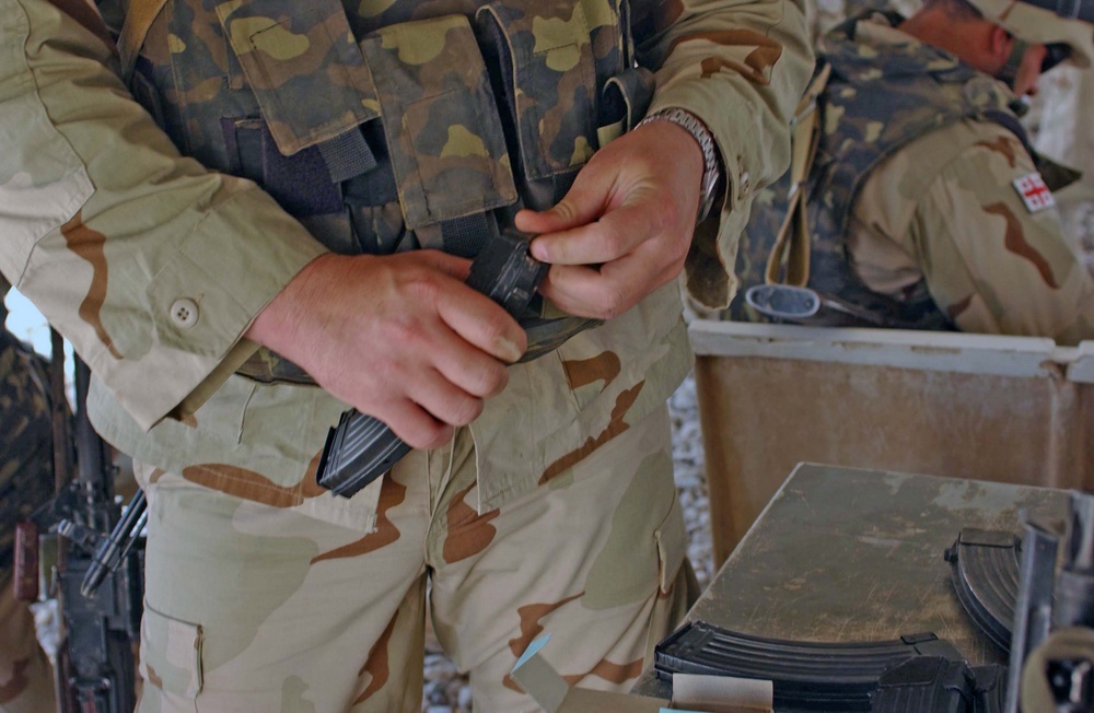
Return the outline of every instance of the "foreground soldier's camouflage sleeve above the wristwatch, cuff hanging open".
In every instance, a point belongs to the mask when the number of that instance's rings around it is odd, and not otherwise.
[[[813,70],[804,0],[638,0],[643,63],[659,67],[650,113],[678,106],[718,142],[728,190],[696,230],[691,296],[718,308],[735,289],[737,241],[755,192],[790,163],[789,122]]]

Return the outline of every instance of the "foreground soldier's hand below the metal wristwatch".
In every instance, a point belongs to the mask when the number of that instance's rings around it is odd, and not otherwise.
[[[539,233],[532,255],[551,264],[540,293],[573,315],[606,319],[635,306],[684,267],[695,230],[702,151],[671,121],[607,144],[555,208],[521,211]]]

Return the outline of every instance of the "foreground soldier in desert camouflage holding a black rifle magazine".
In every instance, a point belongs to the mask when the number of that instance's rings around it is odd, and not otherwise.
[[[629,686],[688,599],[674,280],[732,294],[801,3],[117,4],[119,54],[82,0],[0,0],[0,269],[140,464],[140,709],[416,711],[427,593],[477,709],[532,708],[508,673],[542,631]],[[463,284],[512,222],[577,335],[519,364]],[[417,449],[347,500],[315,468],[348,406]]]

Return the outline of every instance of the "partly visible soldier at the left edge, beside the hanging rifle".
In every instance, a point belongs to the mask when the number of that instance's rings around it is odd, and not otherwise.
[[[0,713],[42,713],[56,708],[53,670],[12,568],[15,523],[54,493],[49,382],[42,358],[3,328],[10,287],[0,278]]]

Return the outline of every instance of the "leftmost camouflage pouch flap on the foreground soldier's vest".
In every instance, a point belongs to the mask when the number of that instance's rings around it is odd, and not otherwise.
[[[339,0],[223,2],[217,15],[284,155],[379,116]]]

